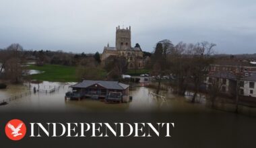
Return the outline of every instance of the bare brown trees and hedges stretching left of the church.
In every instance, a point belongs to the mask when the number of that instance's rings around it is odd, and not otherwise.
[[[77,76],[81,74],[80,67],[98,67],[100,54],[74,54],[62,50],[24,50],[20,44],[11,44],[7,48],[0,49],[0,79],[12,83],[20,83],[24,80],[28,69],[26,63],[35,62],[38,66],[44,64],[65,65],[77,67]],[[90,71],[90,70],[89,70]],[[93,71],[93,70],[92,70]]]

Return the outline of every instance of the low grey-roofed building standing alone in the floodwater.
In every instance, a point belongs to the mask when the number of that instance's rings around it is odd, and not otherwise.
[[[118,102],[129,98],[129,85],[119,81],[84,80],[70,87],[71,91],[66,93],[65,98],[78,100],[92,98]]]

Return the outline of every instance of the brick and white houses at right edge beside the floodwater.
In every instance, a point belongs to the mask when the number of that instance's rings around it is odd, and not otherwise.
[[[223,94],[234,95],[238,88],[240,96],[256,98],[256,65],[241,61],[218,61],[211,65],[205,83],[207,89],[218,85]]]

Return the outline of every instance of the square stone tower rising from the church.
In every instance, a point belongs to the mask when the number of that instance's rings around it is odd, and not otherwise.
[[[117,28],[116,32],[116,47],[117,50],[126,50],[131,48],[131,26],[129,28]]]

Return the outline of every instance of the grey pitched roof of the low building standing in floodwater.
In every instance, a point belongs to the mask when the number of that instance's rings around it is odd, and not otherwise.
[[[77,83],[75,85],[72,85],[71,87],[79,87],[79,88],[86,88],[91,85],[101,85],[102,87],[105,87],[106,89],[127,89],[129,85],[126,85],[124,83],[119,83],[118,81],[92,81],[92,80],[84,80],[81,83]]]

